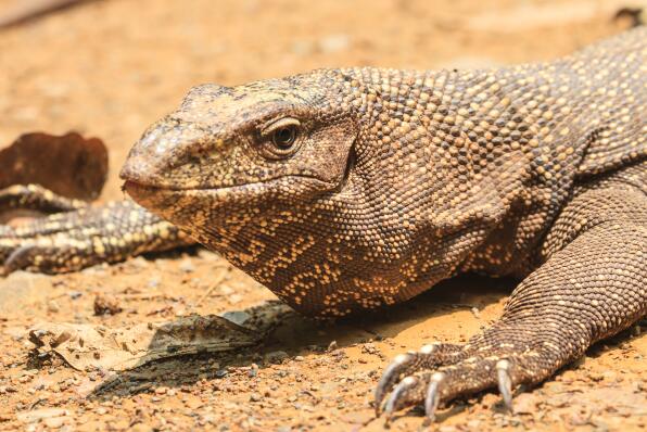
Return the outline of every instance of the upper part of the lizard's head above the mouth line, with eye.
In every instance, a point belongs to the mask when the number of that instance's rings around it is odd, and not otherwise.
[[[357,131],[327,81],[321,72],[238,87],[194,87],[177,111],[143,134],[120,176],[130,186],[156,189],[155,195],[289,178],[320,191],[334,189]],[[130,190],[136,200],[145,194]],[[263,194],[264,188],[249,192]]]

